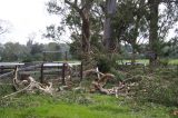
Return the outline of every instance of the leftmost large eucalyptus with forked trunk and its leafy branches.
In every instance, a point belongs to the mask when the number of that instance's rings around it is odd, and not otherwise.
[[[103,0],[65,0],[63,7],[59,1],[48,3],[50,13],[62,16],[60,27],[67,26],[71,32],[71,55],[75,58],[83,59],[87,65],[93,65],[95,53],[103,50],[105,13],[102,6],[105,7]],[[65,30],[60,29],[60,31]]]

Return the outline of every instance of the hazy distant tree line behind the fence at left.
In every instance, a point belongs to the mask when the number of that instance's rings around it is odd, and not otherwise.
[[[27,45],[7,42],[0,45],[1,61],[41,61],[43,60],[43,51],[60,51],[58,53],[46,55],[46,60],[57,61],[65,59],[65,52],[69,51],[69,46],[66,43],[50,42],[48,45],[33,43],[31,40]],[[70,53],[68,53],[68,57]]]

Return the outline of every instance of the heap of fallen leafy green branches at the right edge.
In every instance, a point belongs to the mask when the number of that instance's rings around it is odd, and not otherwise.
[[[157,69],[154,76],[149,78],[145,77],[137,88],[138,91],[136,95],[138,100],[151,101],[166,106],[178,106],[177,71],[169,71],[164,68]]]

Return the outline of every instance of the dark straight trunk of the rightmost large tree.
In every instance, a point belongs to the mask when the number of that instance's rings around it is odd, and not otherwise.
[[[149,0],[150,9],[150,23],[149,23],[149,49],[150,58],[149,62],[151,66],[156,65],[158,56],[158,7],[159,0]]]

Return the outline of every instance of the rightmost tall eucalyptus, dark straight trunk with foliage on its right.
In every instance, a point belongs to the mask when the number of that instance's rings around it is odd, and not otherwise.
[[[178,21],[178,0],[148,0],[149,7],[149,51],[151,52],[150,65],[155,65],[162,48],[162,42],[169,29]],[[160,12],[159,7],[165,9]]]

